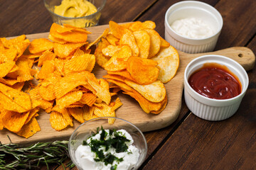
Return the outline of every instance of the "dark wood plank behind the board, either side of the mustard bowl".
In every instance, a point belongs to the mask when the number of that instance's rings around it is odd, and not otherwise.
[[[142,11],[149,8],[156,0],[107,0],[102,10],[100,25],[110,20],[116,22],[134,21]],[[0,1],[0,37],[11,37],[21,34],[44,33],[50,30],[53,23],[50,13],[42,1]]]

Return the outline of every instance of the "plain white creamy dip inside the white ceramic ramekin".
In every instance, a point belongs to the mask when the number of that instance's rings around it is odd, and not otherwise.
[[[201,18],[183,18],[170,24],[171,28],[178,34],[187,38],[208,38],[215,30]]]

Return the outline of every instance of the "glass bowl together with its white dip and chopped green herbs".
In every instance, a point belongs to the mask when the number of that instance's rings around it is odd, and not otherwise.
[[[132,123],[103,117],[82,123],[70,136],[68,151],[78,169],[129,170],[142,165],[147,145],[143,133]]]

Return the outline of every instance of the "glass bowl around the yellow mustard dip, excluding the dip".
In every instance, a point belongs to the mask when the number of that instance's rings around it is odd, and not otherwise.
[[[79,28],[86,28],[98,25],[101,11],[107,0],[87,0],[97,8],[97,12],[82,17],[65,17],[54,13],[55,6],[59,6],[62,1],[63,0],[44,0],[45,6],[50,12],[50,16],[53,18],[53,23],[58,23],[60,25],[69,24]]]

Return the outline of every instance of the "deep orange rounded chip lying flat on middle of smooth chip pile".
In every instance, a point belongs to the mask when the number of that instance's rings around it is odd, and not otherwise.
[[[137,84],[151,84],[159,77],[157,62],[141,57],[129,57],[127,71]],[[139,73],[139,74],[138,74]]]

